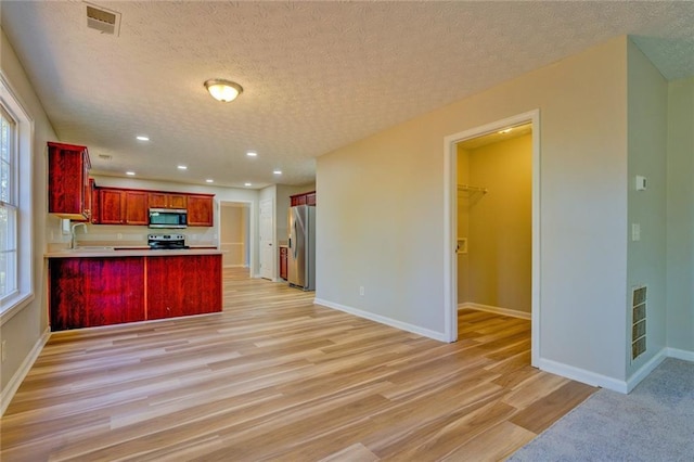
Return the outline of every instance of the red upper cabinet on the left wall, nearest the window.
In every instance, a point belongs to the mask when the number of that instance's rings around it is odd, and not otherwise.
[[[48,211],[61,218],[91,216],[91,163],[87,146],[48,143]]]

